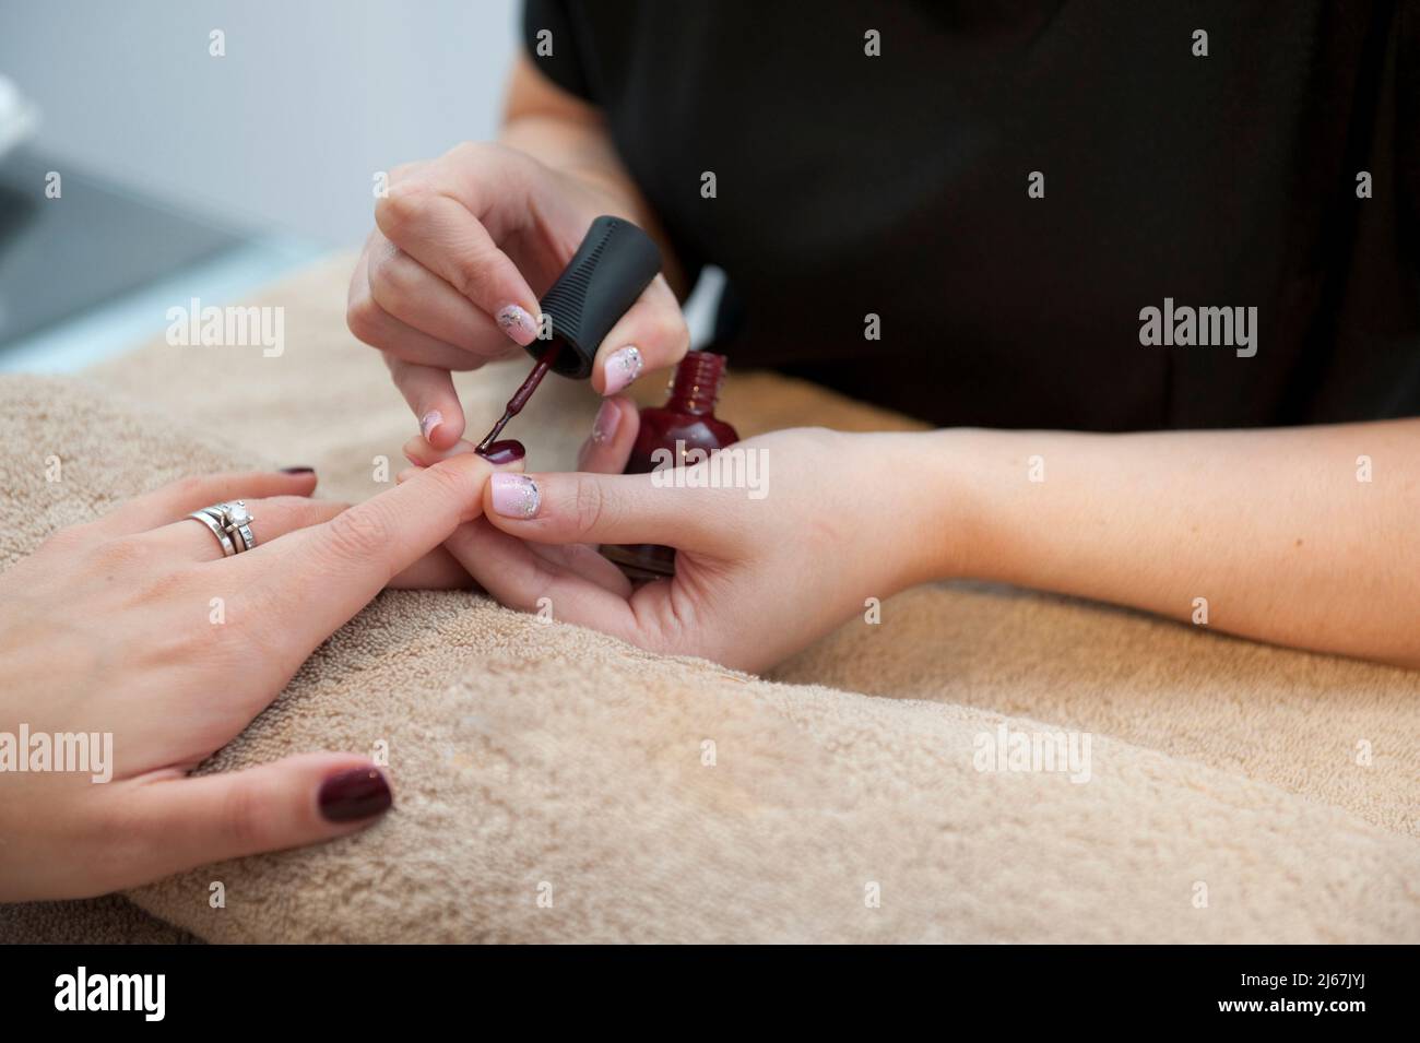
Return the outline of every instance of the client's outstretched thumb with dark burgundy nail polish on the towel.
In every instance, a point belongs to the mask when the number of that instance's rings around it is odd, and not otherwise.
[[[118,793],[115,793],[115,798]],[[260,768],[135,782],[122,792],[118,887],[365,829],[393,805],[358,754],[300,754]]]

